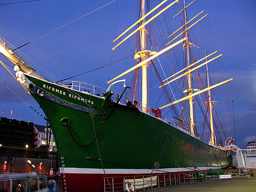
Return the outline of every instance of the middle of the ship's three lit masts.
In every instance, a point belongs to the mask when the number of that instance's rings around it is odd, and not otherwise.
[[[184,2],[184,23],[186,23],[186,9],[185,9],[185,0],[183,0]],[[185,27],[185,37],[186,39],[186,60],[187,60],[187,65],[190,65],[190,57],[189,57],[189,33],[186,30],[188,27],[187,25],[184,26]],[[188,70],[190,70],[190,68],[188,68]],[[188,93],[189,95],[193,94],[193,90],[192,90],[192,82],[191,82],[191,74],[189,73],[187,75],[188,77],[188,85],[189,85],[189,89],[188,89]],[[189,97],[189,107],[190,107],[190,131],[191,131],[191,135],[194,136],[194,110],[193,110],[193,98]]]

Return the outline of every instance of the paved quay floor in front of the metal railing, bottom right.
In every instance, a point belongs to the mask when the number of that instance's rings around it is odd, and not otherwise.
[[[154,192],[189,191],[189,192],[216,192],[216,191],[256,191],[256,179],[250,180],[226,180],[208,183],[196,183],[192,185],[176,185],[166,188],[154,189]]]

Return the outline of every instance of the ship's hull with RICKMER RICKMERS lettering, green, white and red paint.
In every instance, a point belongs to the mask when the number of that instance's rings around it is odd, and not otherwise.
[[[86,91],[27,78],[53,129],[63,191],[103,191],[105,176],[188,172],[231,164],[226,151],[134,106],[103,104],[106,99]],[[159,168],[154,169],[155,162]]]

